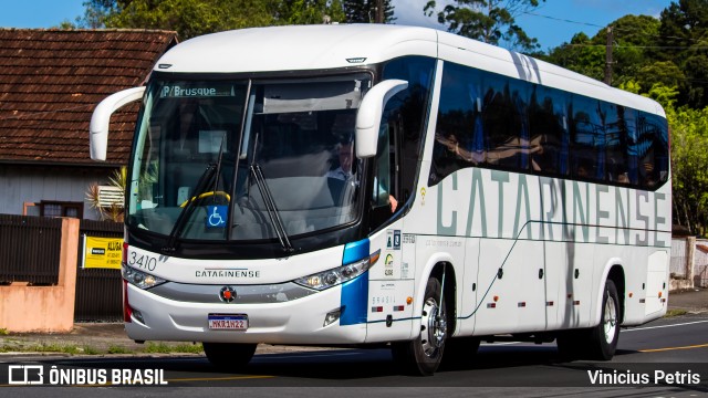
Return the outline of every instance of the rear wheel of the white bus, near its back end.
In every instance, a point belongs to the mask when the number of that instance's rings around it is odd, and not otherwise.
[[[615,355],[620,338],[620,297],[613,281],[605,283],[602,297],[602,316],[600,325],[591,329],[590,358],[610,360]]]

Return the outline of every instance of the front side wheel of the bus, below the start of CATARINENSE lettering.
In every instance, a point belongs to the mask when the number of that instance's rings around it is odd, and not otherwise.
[[[440,304],[440,281],[428,280],[423,302],[420,333],[410,342],[392,345],[394,359],[408,374],[431,376],[442,359],[447,338],[447,311],[445,300]]]

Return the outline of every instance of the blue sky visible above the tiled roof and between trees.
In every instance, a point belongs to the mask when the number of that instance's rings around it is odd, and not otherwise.
[[[1,28],[52,28],[83,15],[86,0],[0,0]],[[427,0],[393,0],[397,24],[445,30],[435,17],[425,17]],[[437,0],[438,10],[452,0]],[[570,42],[577,32],[589,36],[626,14],[658,18],[670,0],[545,0],[533,11],[517,18],[517,23],[546,51]]]

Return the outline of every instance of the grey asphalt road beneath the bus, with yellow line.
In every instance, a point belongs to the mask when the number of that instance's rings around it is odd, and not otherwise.
[[[168,357],[0,357],[0,397],[4,396],[673,396],[708,392],[708,314],[663,318],[638,328],[623,329],[617,353],[607,363],[562,362],[555,344],[482,344],[475,365],[442,369],[433,377],[398,373],[387,349],[332,349],[263,354],[241,373],[223,373],[201,356]],[[66,377],[100,376],[114,369],[137,373],[167,383],[160,387],[93,386],[88,388],[14,387],[8,385],[8,366],[41,366],[45,380],[52,366]],[[33,368],[30,368],[34,371]],[[73,369],[73,370],[72,370]],[[77,370],[83,369],[83,370]],[[127,369],[127,370],[125,370]],[[135,370],[139,371],[135,371]],[[15,369],[17,371],[17,369]],[[58,375],[55,373],[54,375]],[[17,378],[17,376],[15,376]],[[594,380],[594,383],[593,383]],[[625,384],[624,380],[629,380]],[[49,383],[44,383],[48,385]],[[200,389],[185,387],[201,387]],[[329,387],[329,388],[322,388]],[[337,387],[333,390],[331,387]]]

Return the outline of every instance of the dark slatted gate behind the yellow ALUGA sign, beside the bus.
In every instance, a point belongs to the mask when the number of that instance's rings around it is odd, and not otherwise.
[[[108,221],[81,220],[79,263],[76,264],[76,302],[74,321],[117,322],[123,320],[121,270],[82,269],[84,234],[97,238],[123,237],[123,224]]]

